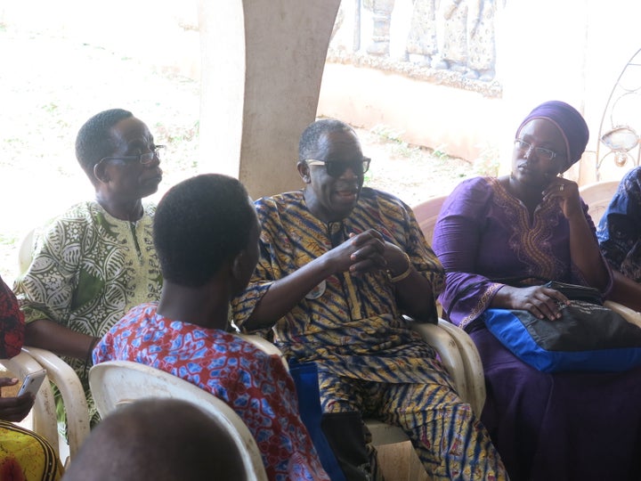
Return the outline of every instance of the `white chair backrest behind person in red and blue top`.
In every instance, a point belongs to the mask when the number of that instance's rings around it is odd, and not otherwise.
[[[222,400],[200,387],[168,372],[128,361],[96,364],[89,371],[89,387],[102,417],[119,405],[150,397],[173,397],[198,405],[230,434],[242,453],[247,479],[267,479],[256,440],[243,420]]]

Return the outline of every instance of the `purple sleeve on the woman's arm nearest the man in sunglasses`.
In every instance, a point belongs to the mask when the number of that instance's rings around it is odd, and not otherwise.
[[[433,249],[446,272],[439,300],[450,322],[465,327],[490,306],[503,284],[475,274],[484,219],[489,215],[492,189],[483,178],[458,185],[443,204],[434,227]]]

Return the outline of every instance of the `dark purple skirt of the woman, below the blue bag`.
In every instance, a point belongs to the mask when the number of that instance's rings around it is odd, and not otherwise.
[[[641,479],[641,368],[546,374],[522,363],[483,326],[481,420],[512,481]]]

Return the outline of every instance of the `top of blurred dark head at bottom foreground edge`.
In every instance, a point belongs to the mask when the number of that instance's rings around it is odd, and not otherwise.
[[[228,431],[196,404],[142,399],[92,429],[63,481],[246,481]]]

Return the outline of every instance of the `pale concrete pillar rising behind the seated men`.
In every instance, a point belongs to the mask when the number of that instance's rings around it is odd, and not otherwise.
[[[298,138],[316,115],[340,0],[200,0],[200,165],[253,198],[302,186]]]

